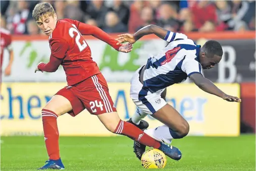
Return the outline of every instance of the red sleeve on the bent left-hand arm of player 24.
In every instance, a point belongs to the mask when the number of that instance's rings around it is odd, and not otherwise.
[[[41,63],[37,66],[38,70],[45,72],[55,72],[58,70],[59,66],[62,63],[62,59],[56,58],[53,55],[50,55],[50,61],[47,64]]]

